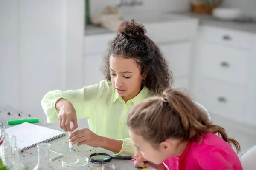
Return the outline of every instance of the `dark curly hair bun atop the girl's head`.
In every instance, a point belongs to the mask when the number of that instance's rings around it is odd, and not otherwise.
[[[146,29],[140,23],[136,23],[134,20],[124,21],[118,28],[118,34],[123,34],[128,37],[143,38],[146,34]]]

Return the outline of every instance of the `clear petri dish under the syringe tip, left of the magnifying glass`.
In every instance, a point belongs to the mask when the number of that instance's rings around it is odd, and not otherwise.
[[[82,167],[88,164],[89,159],[85,156],[67,157],[62,159],[62,164],[67,167]]]

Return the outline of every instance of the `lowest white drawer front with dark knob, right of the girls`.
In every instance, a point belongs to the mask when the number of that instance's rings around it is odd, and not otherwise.
[[[210,113],[246,121],[246,89],[225,84],[211,79],[201,79],[197,90],[196,101],[207,108]]]

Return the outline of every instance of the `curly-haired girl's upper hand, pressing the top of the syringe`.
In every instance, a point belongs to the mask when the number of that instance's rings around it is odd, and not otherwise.
[[[58,121],[61,129],[65,132],[73,132],[78,127],[76,110],[73,105],[65,99],[60,99],[56,102],[56,108],[59,110]],[[72,129],[70,128],[70,122],[73,122]]]

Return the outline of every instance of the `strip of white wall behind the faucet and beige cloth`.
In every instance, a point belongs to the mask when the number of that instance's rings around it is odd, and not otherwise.
[[[143,5],[130,7],[131,11],[186,11],[189,10],[189,0],[142,0]],[[90,14],[101,12],[105,6],[115,5],[115,0],[90,0]],[[127,8],[127,7],[121,7]]]

